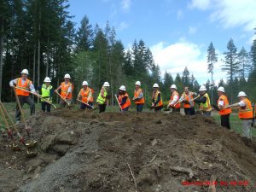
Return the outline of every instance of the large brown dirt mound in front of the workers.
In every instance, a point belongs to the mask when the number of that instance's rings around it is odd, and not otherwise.
[[[28,123],[38,155],[1,138],[1,192],[256,190],[256,143],[202,116],[56,110]]]

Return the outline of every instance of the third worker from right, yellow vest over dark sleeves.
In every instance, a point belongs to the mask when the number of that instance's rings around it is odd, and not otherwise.
[[[199,89],[199,96],[195,98],[195,102],[200,103],[200,111],[205,116],[211,116],[212,106],[210,97],[207,94],[207,88],[205,85],[201,85]]]

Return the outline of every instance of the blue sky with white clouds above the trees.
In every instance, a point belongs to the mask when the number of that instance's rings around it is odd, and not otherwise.
[[[107,20],[126,49],[143,39],[160,69],[182,73],[188,67],[201,83],[207,73],[207,47],[212,41],[219,57],[214,79],[221,71],[223,52],[230,38],[236,47],[250,49],[256,27],[255,0],[70,0],[69,11],[79,27],[87,15],[90,24],[104,27]]]

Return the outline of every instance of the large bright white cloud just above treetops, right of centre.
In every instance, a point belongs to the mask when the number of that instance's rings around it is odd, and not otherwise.
[[[178,41],[176,44],[166,44],[160,42],[150,47],[154,55],[154,61],[160,65],[162,71],[167,71],[175,78],[177,73],[182,75],[184,67],[188,67],[190,74],[194,74],[195,79],[200,84],[211,79],[207,73],[207,49],[201,50],[201,46],[188,41]],[[222,55],[218,55],[219,58]],[[225,73],[221,71],[221,59],[215,65],[213,78],[215,82],[225,78]]]

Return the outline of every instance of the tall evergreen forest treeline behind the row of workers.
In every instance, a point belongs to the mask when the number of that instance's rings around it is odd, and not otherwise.
[[[171,84],[198,90],[200,84],[188,67],[182,74],[160,73],[154,56],[143,39],[134,40],[131,49],[125,49],[122,41],[108,21],[104,27],[92,25],[84,15],[79,28],[68,12],[67,0],[1,0],[0,3],[0,88],[4,102],[14,101],[9,80],[20,76],[23,68],[29,70],[29,78],[38,87],[44,78],[52,79],[57,87],[64,74],[69,73],[78,93],[87,80],[97,92],[108,81],[113,96],[121,84],[130,94],[134,83],[143,84],[146,101],[150,101],[152,84],[160,84],[165,100],[170,97]],[[217,88],[223,85],[230,100],[236,101],[238,91],[244,90],[256,102],[256,39],[249,51],[237,49],[230,38],[224,52],[223,70],[227,79],[214,83],[214,64],[218,61],[213,44],[207,49],[209,80],[207,89],[212,101],[217,100]],[[193,67],[188,63],[189,67]],[[172,66],[170,66],[172,68]],[[207,72],[206,72],[207,73]],[[114,99],[111,100],[112,104]]]

